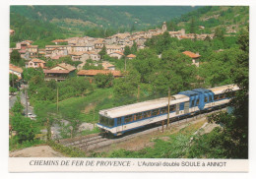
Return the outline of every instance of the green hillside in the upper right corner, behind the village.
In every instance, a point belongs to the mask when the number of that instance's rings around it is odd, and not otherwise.
[[[198,8],[195,11],[182,15],[168,22],[169,30],[185,29],[191,31],[191,24],[195,27],[202,26],[205,29],[196,28],[195,32],[211,33],[216,28],[224,28],[227,33],[237,32],[249,24],[248,6],[208,6]]]

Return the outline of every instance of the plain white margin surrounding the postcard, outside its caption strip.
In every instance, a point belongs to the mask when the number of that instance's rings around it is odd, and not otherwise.
[[[74,175],[76,178],[112,178],[112,177],[118,177],[118,178],[133,178],[133,177],[140,177],[140,178],[199,178],[199,177],[207,177],[207,178],[227,178],[232,177],[234,179],[236,178],[255,178],[255,129],[256,127],[254,117],[255,115],[252,114],[252,112],[255,110],[255,102],[252,99],[255,99],[255,94],[253,91],[255,90],[255,80],[253,78],[255,77],[255,17],[256,17],[256,6],[255,6],[255,0],[164,0],[164,1],[154,1],[154,0],[2,0],[1,6],[0,6],[0,12],[1,12],[1,52],[4,50],[5,52],[8,52],[8,45],[6,45],[9,41],[9,5],[250,5],[250,138],[249,138],[249,145],[250,145],[250,155],[249,155],[249,162],[250,162],[250,172],[249,174],[237,174],[237,173],[211,173],[211,174],[205,174],[205,173],[33,173],[33,174],[21,174],[21,173],[15,173],[10,174],[7,173],[7,163],[8,163],[8,88],[6,86],[8,85],[8,61],[5,59],[8,59],[8,53],[4,53],[5,55],[1,56],[1,66],[0,66],[0,79],[1,84],[5,84],[3,88],[1,88],[1,112],[4,113],[2,115],[2,121],[1,121],[1,161],[0,161],[0,168],[1,168],[1,176],[3,178],[11,177],[11,178],[74,178]],[[2,54],[2,53],[1,53]],[[8,87],[8,86],[7,86]],[[4,174],[4,175],[3,175]]]

